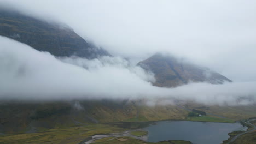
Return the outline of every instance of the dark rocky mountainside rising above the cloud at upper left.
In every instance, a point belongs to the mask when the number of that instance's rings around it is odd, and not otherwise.
[[[86,42],[71,28],[34,19],[15,11],[0,9],[0,35],[27,44],[54,56],[76,55],[89,59],[109,55]]]

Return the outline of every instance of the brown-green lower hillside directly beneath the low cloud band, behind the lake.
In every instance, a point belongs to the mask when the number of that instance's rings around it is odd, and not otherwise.
[[[189,109],[209,118],[234,120],[255,117],[256,106],[206,106],[197,103],[148,106],[145,101],[83,100],[55,102],[5,101],[0,104],[0,134],[35,133],[92,123],[148,122],[187,119]],[[212,113],[212,115],[210,115]],[[208,119],[213,121],[213,119]],[[208,121],[207,120],[207,121]],[[197,119],[197,121],[206,121]],[[224,122],[223,119],[218,121]]]

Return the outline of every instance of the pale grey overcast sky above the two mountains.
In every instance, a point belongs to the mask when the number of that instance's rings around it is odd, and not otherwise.
[[[169,52],[233,81],[256,80],[256,1],[0,0],[4,7],[59,21],[115,56],[139,61]]]

